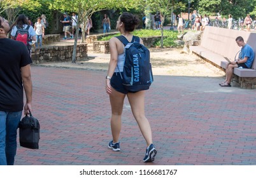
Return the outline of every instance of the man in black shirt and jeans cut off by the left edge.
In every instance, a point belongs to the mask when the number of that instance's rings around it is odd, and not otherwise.
[[[10,25],[0,17],[0,165],[13,165],[17,151],[17,128],[22,110],[32,106],[31,57],[20,41],[7,38]]]

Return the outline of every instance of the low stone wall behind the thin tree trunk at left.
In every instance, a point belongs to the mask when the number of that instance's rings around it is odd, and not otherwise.
[[[32,50],[31,58],[34,64],[44,62],[64,62],[71,61],[73,55],[73,45],[67,46],[43,46]],[[76,48],[76,60],[87,58],[87,44],[78,44]]]

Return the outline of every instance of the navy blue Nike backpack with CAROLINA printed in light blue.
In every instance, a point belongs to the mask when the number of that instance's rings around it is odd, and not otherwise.
[[[133,36],[132,42],[124,36],[116,36],[125,45],[124,87],[130,92],[148,90],[153,83],[150,51],[139,43],[139,37]]]

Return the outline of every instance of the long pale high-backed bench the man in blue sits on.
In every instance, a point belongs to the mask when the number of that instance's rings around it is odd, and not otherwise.
[[[234,60],[236,53],[241,50],[235,41],[238,36],[242,36],[245,43],[256,51],[256,33],[207,26],[201,37],[201,44],[190,46],[190,53],[225,71],[227,60],[224,57]],[[234,69],[232,86],[256,89],[256,60],[253,61],[252,69]]]

